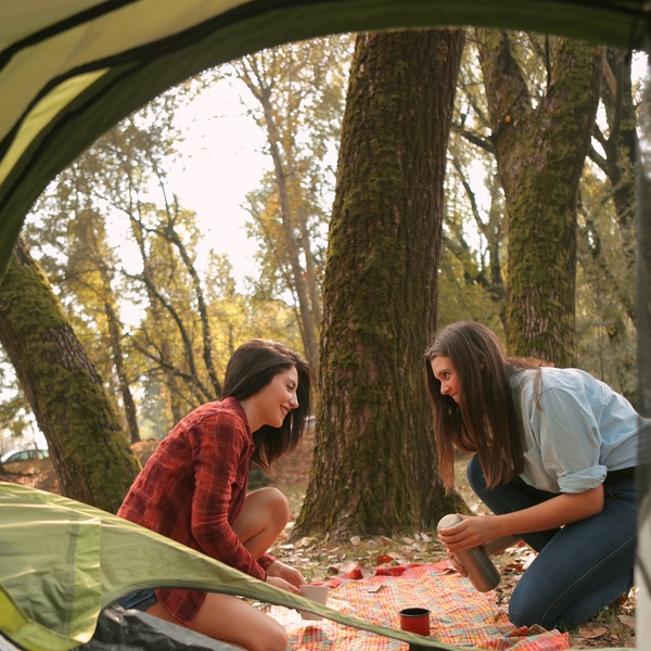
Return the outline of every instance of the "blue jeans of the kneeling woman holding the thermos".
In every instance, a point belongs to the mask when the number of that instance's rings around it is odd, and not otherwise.
[[[467,469],[477,497],[495,513],[512,513],[556,497],[521,478],[493,489],[478,459]],[[558,529],[523,534],[538,553],[509,603],[515,626],[561,628],[585,622],[633,587],[637,546],[635,478],[604,483],[603,510]]]

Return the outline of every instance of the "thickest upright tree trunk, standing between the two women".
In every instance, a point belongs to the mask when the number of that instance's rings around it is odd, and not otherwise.
[[[423,353],[436,322],[463,38],[357,38],[330,227],[315,460],[296,535],[413,531],[461,508],[436,475]]]

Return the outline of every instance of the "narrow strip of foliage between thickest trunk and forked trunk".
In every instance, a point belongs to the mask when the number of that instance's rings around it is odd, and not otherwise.
[[[476,56],[476,44],[470,40],[448,143],[437,323],[474,319],[501,331],[507,224]]]

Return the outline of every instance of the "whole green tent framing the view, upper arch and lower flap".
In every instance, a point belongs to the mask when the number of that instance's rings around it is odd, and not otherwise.
[[[175,84],[282,42],[465,25],[648,50],[651,5],[644,0],[0,0],[0,279],[25,214],[46,186],[120,118]],[[651,217],[640,224],[643,241],[651,241]],[[640,268],[651,275],[651,260]],[[647,276],[640,278],[638,304],[646,305],[649,283]],[[646,311],[639,310],[644,318]],[[649,334],[648,324],[638,327]],[[646,349],[640,346],[642,357]],[[641,369],[640,378],[648,374]],[[101,608],[135,587],[154,585],[306,605],[108,513],[0,484],[0,631],[16,643],[74,648],[90,638]],[[324,607],[311,610],[413,640]],[[651,614],[646,602],[643,611]]]

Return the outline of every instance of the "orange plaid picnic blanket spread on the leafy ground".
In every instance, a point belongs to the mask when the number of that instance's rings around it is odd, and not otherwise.
[[[365,572],[368,574],[368,572]],[[324,585],[328,607],[359,620],[399,629],[398,611],[425,607],[430,637],[463,649],[557,651],[569,649],[566,634],[540,627],[515,628],[493,592],[477,592],[448,561],[425,565],[378,567],[362,578],[355,570]],[[269,613],[290,634],[292,651],[406,651],[400,640],[343,626],[330,620],[302,620],[298,612],[272,607]]]

